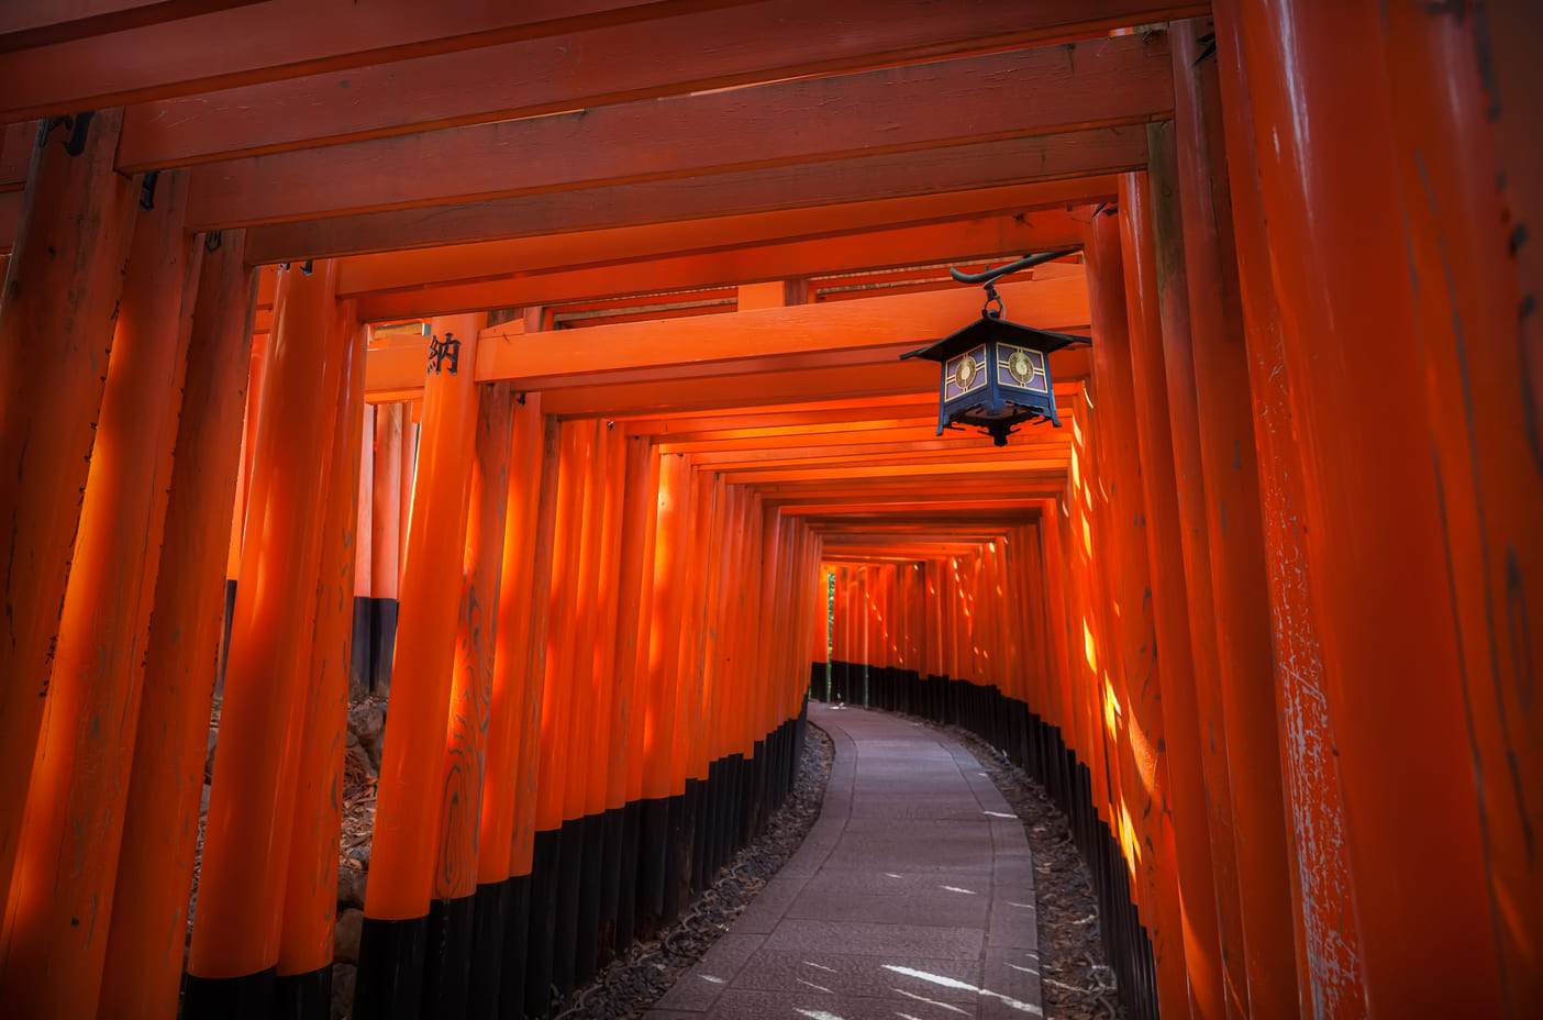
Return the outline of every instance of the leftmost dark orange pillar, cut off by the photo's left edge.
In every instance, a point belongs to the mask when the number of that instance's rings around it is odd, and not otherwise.
[[[32,751],[69,577],[108,352],[133,231],[133,185],[111,170],[117,113],[80,156],[63,130],[37,136],[0,316],[0,901],[9,897]],[[39,336],[52,355],[39,358]]]

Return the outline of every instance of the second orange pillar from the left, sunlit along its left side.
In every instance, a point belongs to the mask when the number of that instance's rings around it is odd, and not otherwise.
[[[139,216],[52,648],[5,920],[0,997],[29,1015],[96,1009],[143,656],[201,262],[182,233],[185,174]]]

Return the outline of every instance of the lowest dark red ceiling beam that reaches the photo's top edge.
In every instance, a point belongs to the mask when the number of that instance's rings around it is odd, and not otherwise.
[[[1015,49],[1190,17],[1156,0],[767,0],[130,105],[145,170]]]

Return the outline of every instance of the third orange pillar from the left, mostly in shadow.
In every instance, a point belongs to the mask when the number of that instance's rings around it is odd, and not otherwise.
[[[256,279],[241,248],[236,231],[213,252],[199,250],[204,267],[97,1005],[103,1020],[170,1017],[177,1009],[182,960],[167,947],[187,938],[250,370]]]

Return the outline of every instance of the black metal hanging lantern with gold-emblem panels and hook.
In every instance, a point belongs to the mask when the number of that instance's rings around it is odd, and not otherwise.
[[[1025,421],[1049,421],[1060,427],[1049,355],[1092,339],[1006,321],[995,282],[1008,273],[1066,255],[1071,252],[1032,255],[983,273],[949,270],[960,282],[984,284],[986,307],[977,321],[957,333],[901,355],[901,360],[926,358],[941,366],[938,435],[946,427],[971,424],[989,434],[997,446],[1006,446],[1015,426]]]

